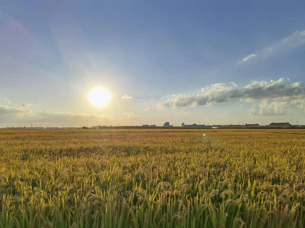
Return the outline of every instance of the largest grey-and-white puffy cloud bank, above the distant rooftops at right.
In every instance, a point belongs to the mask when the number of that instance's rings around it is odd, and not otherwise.
[[[219,83],[202,88],[197,94],[172,95],[167,100],[157,104],[160,109],[178,107],[196,107],[198,105],[213,105],[230,101],[257,102],[248,111],[251,116],[270,116],[292,114],[294,108],[305,112],[305,88],[301,82],[284,83],[285,78],[270,81],[251,81],[243,88],[236,88],[233,82]],[[222,115],[228,112],[222,112]]]

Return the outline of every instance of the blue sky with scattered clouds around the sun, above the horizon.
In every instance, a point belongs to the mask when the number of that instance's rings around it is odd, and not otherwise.
[[[0,128],[305,125],[304,9],[304,1],[0,1]],[[106,107],[88,101],[95,86],[111,92]]]

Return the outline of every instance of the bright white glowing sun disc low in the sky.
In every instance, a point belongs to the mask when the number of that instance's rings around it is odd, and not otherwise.
[[[87,98],[91,105],[97,108],[103,108],[109,104],[112,95],[108,89],[102,86],[95,86],[88,92]]]

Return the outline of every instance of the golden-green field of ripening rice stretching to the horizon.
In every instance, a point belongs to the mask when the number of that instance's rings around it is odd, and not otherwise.
[[[305,130],[1,130],[0,227],[305,227],[304,152]]]

